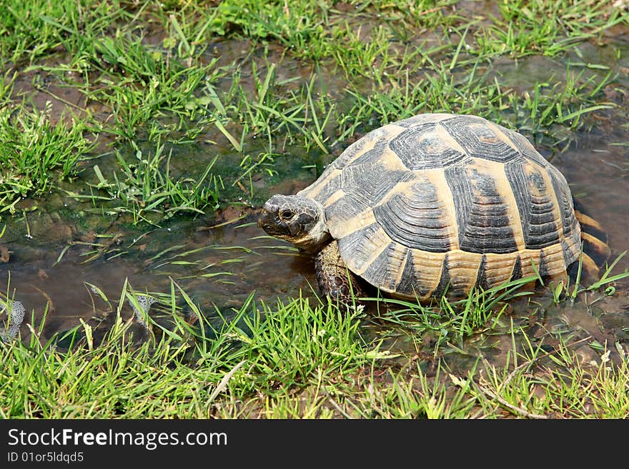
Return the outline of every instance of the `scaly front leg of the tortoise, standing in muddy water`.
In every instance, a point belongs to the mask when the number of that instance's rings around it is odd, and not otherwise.
[[[360,278],[350,272],[343,262],[336,241],[325,246],[314,258],[314,273],[321,293],[332,300],[351,305],[352,293],[354,297],[365,295],[360,287]]]

